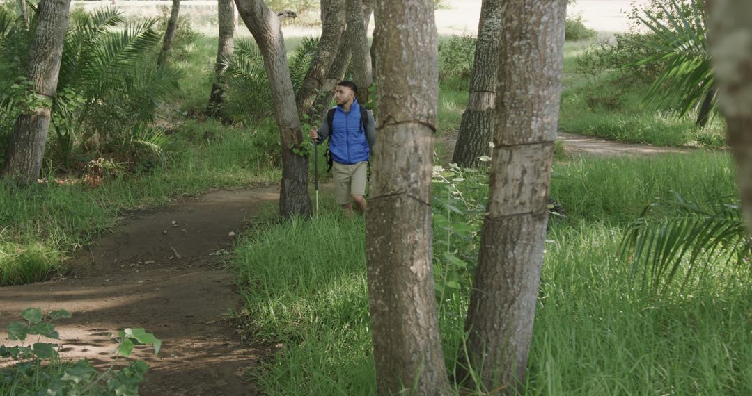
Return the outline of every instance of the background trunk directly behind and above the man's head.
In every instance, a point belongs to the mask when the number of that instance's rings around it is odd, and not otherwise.
[[[347,43],[352,54],[353,80],[358,86],[357,100],[360,104],[368,103],[368,87],[373,82],[371,75],[371,52],[368,48],[368,34],[365,30],[365,12],[362,0],[345,0],[347,5]],[[370,19],[370,10],[368,18]]]

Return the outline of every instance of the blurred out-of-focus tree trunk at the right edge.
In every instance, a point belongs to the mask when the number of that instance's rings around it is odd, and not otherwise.
[[[708,20],[718,104],[728,125],[741,208],[752,235],[752,3],[708,1]]]

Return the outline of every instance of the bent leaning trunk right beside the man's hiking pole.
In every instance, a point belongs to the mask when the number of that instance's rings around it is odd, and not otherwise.
[[[271,86],[274,118],[282,141],[282,183],[280,214],[311,214],[308,194],[308,157],[293,153],[290,148],[303,142],[300,118],[295,104],[293,81],[287,65],[287,51],[277,14],[263,0],[235,0],[238,12],[256,40],[264,58],[264,68]]]

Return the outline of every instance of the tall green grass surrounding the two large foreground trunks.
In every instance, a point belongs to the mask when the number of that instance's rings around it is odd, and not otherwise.
[[[653,199],[734,191],[725,154],[655,160],[581,159],[556,165],[553,191],[569,217],[547,236],[529,376],[529,395],[745,395],[752,391],[748,277],[708,276],[689,293],[664,299],[630,288],[617,259],[623,223]],[[446,196],[435,184],[435,202]],[[483,186],[461,185],[465,198]],[[325,202],[331,197],[323,198]],[[270,395],[375,395],[365,284],[362,219],[329,205],[311,220],[262,226],[236,263],[252,329],[280,350],[255,372]],[[435,216],[444,212],[435,204]],[[453,220],[465,222],[475,214]],[[438,222],[437,222],[438,223]],[[462,342],[469,273],[446,288],[447,248],[477,254],[477,239],[437,228],[435,277],[447,370]],[[448,244],[446,243],[448,241]],[[474,263],[468,260],[472,267]],[[746,269],[748,271],[748,269]]]

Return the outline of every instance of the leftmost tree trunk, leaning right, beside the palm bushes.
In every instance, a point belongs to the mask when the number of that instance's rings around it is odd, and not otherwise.
[[[29,81],[34,83],[35,107],[18,116],[2,172],[3,177],[13,178],[19,184],[32,184],[41,171],[70,5],[71,0],[39,2],[28,74]]]

